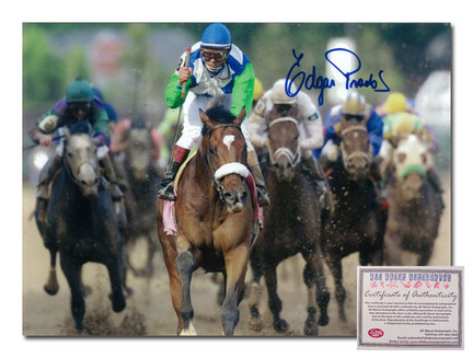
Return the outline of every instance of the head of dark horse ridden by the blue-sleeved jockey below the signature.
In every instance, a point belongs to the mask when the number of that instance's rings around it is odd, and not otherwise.
[[[368,175],[372,160],[372,148],[369,141],[366,119],[357,123],[342,117],[341,150],[345,170],[355,180],[362,180]]]

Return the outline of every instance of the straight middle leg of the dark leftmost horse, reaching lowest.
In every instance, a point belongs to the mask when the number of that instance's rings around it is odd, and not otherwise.
[[[85,315],[85,302],[82,292],[81,282],[81,265],[78,265],[73,259],[61,253],[60,265],[71,291],[71,311],[76,322],[76,330],[81,333],[83,330],[83,317]]]

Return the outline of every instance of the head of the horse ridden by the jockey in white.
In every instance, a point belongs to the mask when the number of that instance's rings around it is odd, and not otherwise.
[[[301,160],[299,129],[295,116],[272,119],[268,126],[270,169],[279,182],[288,182]]]

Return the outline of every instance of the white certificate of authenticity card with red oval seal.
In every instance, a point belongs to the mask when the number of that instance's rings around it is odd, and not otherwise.
[[[463,267],[358,266],[358,349],[463,348]]]

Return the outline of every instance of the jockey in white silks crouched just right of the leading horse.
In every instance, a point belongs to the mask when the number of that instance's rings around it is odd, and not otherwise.
[[[269,124],[269,114],[276,111],[280,117],[287,116],[295,107],[297,108],[299,146],[302,153],[302,163],[314,178],[320,192],[320,200],[325,204],[328,193],[325,176],[319,161],[312,155],[312,150],[322,147],[322,120],[315,104],[304,92],[299,92],[296,96],[286,93],[286,80],[277,80],[257,102],[254,111],[249,117],[250,139],[256,149],[266,148],[268,138],[266,129]],[[296,92],[293,89],[292,93]]]

